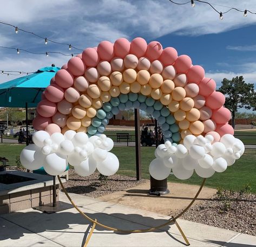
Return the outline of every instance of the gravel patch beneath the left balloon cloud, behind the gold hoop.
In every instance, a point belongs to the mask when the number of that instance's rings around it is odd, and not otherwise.
[[[70,169],[69,180],[64,183],[64,187],[70,193],[96,198],[116,191],[126,190],[145,182],[145,179],[136,181],[135,177],[117,174],[109,176],[107,181],[100,181],[99,173],[97,172],[91,176],[82,177],[77,175],[73,169]]]

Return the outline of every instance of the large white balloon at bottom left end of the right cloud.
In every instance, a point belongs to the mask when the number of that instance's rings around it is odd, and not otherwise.
[[[165,166],[161,158],[154,159],[149,164],[149,174],[156,180],[166,179],[170,174],[170,169]]]

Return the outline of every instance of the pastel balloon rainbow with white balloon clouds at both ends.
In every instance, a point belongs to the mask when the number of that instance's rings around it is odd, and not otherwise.
[[[97,169],[110,176],[119,169],[104,135],[113,115],[139,108],[159,122],[165,144],[157,147],[149,173],[156,180],[171,171],[189,179],[223,172],[244,153],[228,124],[231,113],[215,81],[173,47],[143,38],[101,42],[63,65],[42,94],[33,126],[34,145],[21,152],[21,163],[60,175],[68,165],[89,176]]]

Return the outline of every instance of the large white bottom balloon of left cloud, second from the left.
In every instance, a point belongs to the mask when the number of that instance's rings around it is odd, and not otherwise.
[[[57,176],[64,173],[67,166],[66,155],[52,153],[45,157],[43,168],[49,175]]]

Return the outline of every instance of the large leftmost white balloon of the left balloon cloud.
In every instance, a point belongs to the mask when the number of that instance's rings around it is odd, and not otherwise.
[[[45,155],[41,152],[41,148],[31,144],[22,149],[19,159],[25,168],[37,170],[43,166],[44,157]]]

